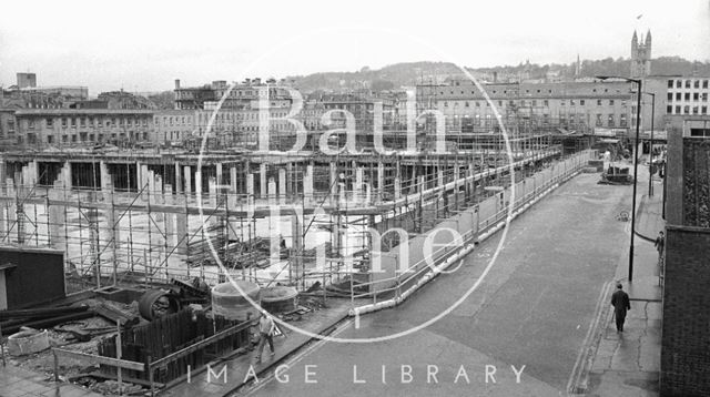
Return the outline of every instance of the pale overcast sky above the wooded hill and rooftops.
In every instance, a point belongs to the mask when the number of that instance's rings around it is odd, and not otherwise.
[[[171,90],[449,61],[480,68],[630,57],[710,60],[710,0],[11,1],[0,7],[0,85]]]

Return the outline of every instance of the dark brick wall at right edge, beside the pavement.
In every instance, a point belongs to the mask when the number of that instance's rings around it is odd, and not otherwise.
[[[661,396],[710,396],[710,230],[667,226]]]

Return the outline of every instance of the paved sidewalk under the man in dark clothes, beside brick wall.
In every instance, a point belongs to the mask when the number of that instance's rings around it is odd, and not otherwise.
[[[627,278],[628,251],[620,256],[616,275],[616,281],[621,282],[631,298],[631,311],[623,333],[617,333],[609,304],[616,283],[610,283],[602,297],[606,312],[595,325],[592,344],[596,349],[590,349],[592,355],[586,360],[586,374],[575,385],[575,389],[585,396],[659,395],[662,287],[658,277],[658,252],[652,242],[663,225],[660,194],[642,196],[637,212],[637,237],[641,238],[635,242],[633,282],[628,283]]]

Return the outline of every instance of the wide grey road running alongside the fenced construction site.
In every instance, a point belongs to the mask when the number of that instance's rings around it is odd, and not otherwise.
[[[278,378],[263,377],[240,395],[567,395],[601,289],[628,245],[628,223],[616,216],[630,211],[631,186],[598,179],[580,174],[515,220],[479,288],[438,322],[394,340],[315,343]],[[363,316],[359,328],[348,322],[337,336],[389,335],[442,313],[479,277],[499,238],[403,305]]]

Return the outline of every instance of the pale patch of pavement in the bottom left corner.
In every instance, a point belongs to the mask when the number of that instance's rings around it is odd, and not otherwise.
[[[0,365],[0,396],[2,397],[93,397],[101,396],[70,383],[47,380],[47,376],[14,365]]]

